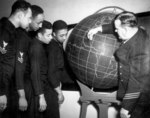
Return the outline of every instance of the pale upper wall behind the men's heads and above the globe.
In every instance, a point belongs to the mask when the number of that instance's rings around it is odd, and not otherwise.
[[[27,0],[45,10],[51,22],[63,19],[68,24],[78,23],[83,18],[106,6],[119,6],[138,13],[150,11],[149,0]]]

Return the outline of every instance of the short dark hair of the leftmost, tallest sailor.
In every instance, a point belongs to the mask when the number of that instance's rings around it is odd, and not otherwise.
[[[12,5],[11,14],[14,14],[18,10],[27,11],[28,8],[31,8],[30,3],[23,0],[18,0]]]

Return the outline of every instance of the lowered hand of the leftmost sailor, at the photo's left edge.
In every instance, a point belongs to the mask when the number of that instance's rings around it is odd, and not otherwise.
[[[6,95],[0,96],[0,111],[5,110],[7,107],[7,97]]]

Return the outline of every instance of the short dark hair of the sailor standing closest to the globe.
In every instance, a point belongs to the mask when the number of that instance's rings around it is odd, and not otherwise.
[[[68,29],[67,23],[63,20],[57,20],[53,23],[53,31],[56,32],[61,29]]]

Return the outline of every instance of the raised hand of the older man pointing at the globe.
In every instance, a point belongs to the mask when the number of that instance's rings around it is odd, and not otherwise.
[[[88,39],[92,40],[93,39],[93,35],[96,34],[98,31],[102,32],[102,26],[90,29],[88,34],[87,34]]]

